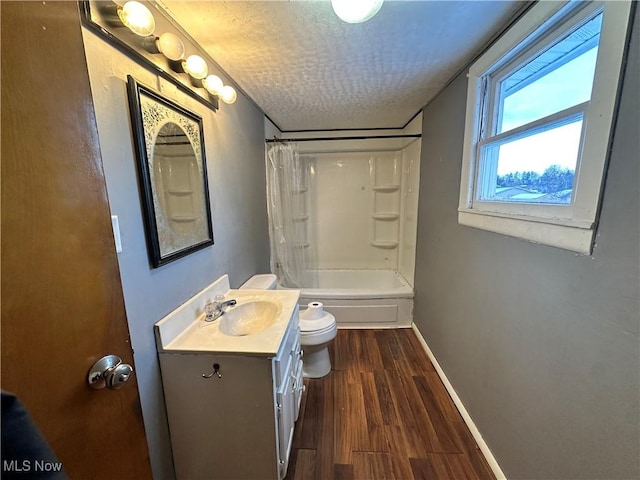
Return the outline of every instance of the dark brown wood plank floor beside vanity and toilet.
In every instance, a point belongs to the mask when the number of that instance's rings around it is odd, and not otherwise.
[[[339,330],[306,379],[289,480],[493,479],[411,329]]]

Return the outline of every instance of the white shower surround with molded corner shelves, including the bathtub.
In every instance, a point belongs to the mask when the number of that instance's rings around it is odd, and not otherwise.
[[[302,306],[322,302],[341,328],[411,325],[420,145],[299,142]],[[280,288],[292,287],[279,278]]]

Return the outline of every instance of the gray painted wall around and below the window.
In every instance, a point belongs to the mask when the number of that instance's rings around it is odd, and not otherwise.
[[[465,75],[424,110],[415,322],[510,479],[640,477],[638,23],[591,256],[458,225]]]

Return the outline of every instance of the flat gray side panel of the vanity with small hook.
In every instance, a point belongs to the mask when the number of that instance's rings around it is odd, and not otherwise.
[[[178,480],[278,478],[271,360],[159,357]]]

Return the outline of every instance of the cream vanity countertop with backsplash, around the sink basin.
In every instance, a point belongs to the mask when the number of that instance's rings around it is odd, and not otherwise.
[[[245,303],[267,301],[277,305],[276,318],[266,329],[245,336],[226,335],[220,329],[224,315],[205,321],[203,298],[195,305],[187,302],[156,324],[156,340],[161,353],[223,353],[275,356],[298,304],[299,290],[227,290],[225,299]],[[198,296],[200,297],[200,296]],[[192,299],[193,300],[193,299]],[[200,301],[197,301],[200,300]],[[210,301],[210,299],[207,299]]]

